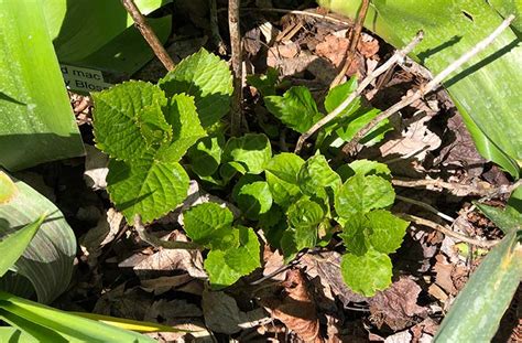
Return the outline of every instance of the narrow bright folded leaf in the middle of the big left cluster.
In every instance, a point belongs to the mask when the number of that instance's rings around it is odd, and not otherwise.
[[[165,119],[173,128],[172,142],[163,144],[156,157],[163,161],[177,162],[207,132],[199,124],[194,98],[186,94],[176,94],[171,98]]]

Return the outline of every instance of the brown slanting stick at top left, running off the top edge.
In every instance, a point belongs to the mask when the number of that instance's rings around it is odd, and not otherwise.
[[[141,35],[145,39],[146,43],[151,46],[154,54],[161,61],[161,63],[165,66],[165,68],[170,72],[174,69],[174,61],[172,61],[171,56],[168,56],[165,47],[157,39],[154,31],[152,31],[151,26],[146,23],[145,18],[141,14],[140,10],[135,6],[133,0],[121,0],[121,3],[126,8],[127,12],[132,17],[134,21],[134,25],[138,30],[140,30]]]

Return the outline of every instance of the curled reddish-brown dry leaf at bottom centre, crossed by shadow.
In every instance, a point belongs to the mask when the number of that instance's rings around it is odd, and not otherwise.
[[[300,269],[290,270],[282,283],[282,298],[262,299],[272,318],[283,322],[305,342],[324,342],[319,334],[319,320],[314,298],[308,292],[306,280]]]

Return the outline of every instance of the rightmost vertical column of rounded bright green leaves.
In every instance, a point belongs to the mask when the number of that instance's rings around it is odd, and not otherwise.
[[[355,173],[342,183],[335,196],[335,211],[341,223],[347,254],[342,256],[345,282],[367,297],[391,283],[390,257],[402,243],[409,223],[383,210],[395,200],[393,187],[383,175],[385,165],[357,161]]]

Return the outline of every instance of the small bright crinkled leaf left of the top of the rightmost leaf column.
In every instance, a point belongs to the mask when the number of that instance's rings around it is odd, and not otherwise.
[[[341,184],[340,176],[331,170],[323,154],[313,156],[303,164],[297,174],[297,183],[307,195],[315,195],[324,187],[336,191]]]

